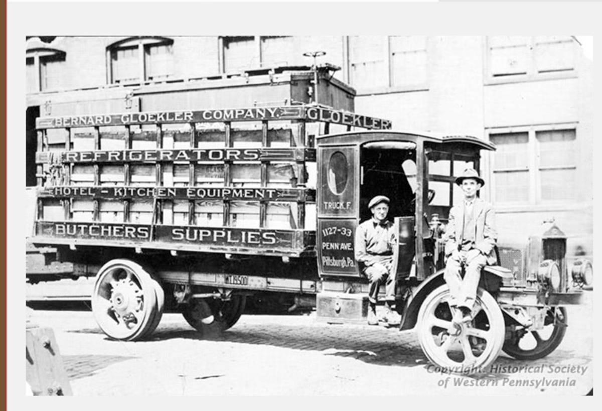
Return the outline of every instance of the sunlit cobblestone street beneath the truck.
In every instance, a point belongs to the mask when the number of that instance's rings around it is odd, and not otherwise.
[[[76,396],[582,395],[593,375],[591,295],[587,301],[569,307],[565,339],[550,356],[527,362],[501,354],[490,374],[447,383],[449,375],[429,365],[413,331],[323,324],[315,313],[243,315],[222,337],[208,339],[170,313],[145,342],[108,339],[92,312],[34,310],[32,320],[54,329]],[[516,385],[544,378],[575,386]],[[486,384],[474,386],[479,381]]]

